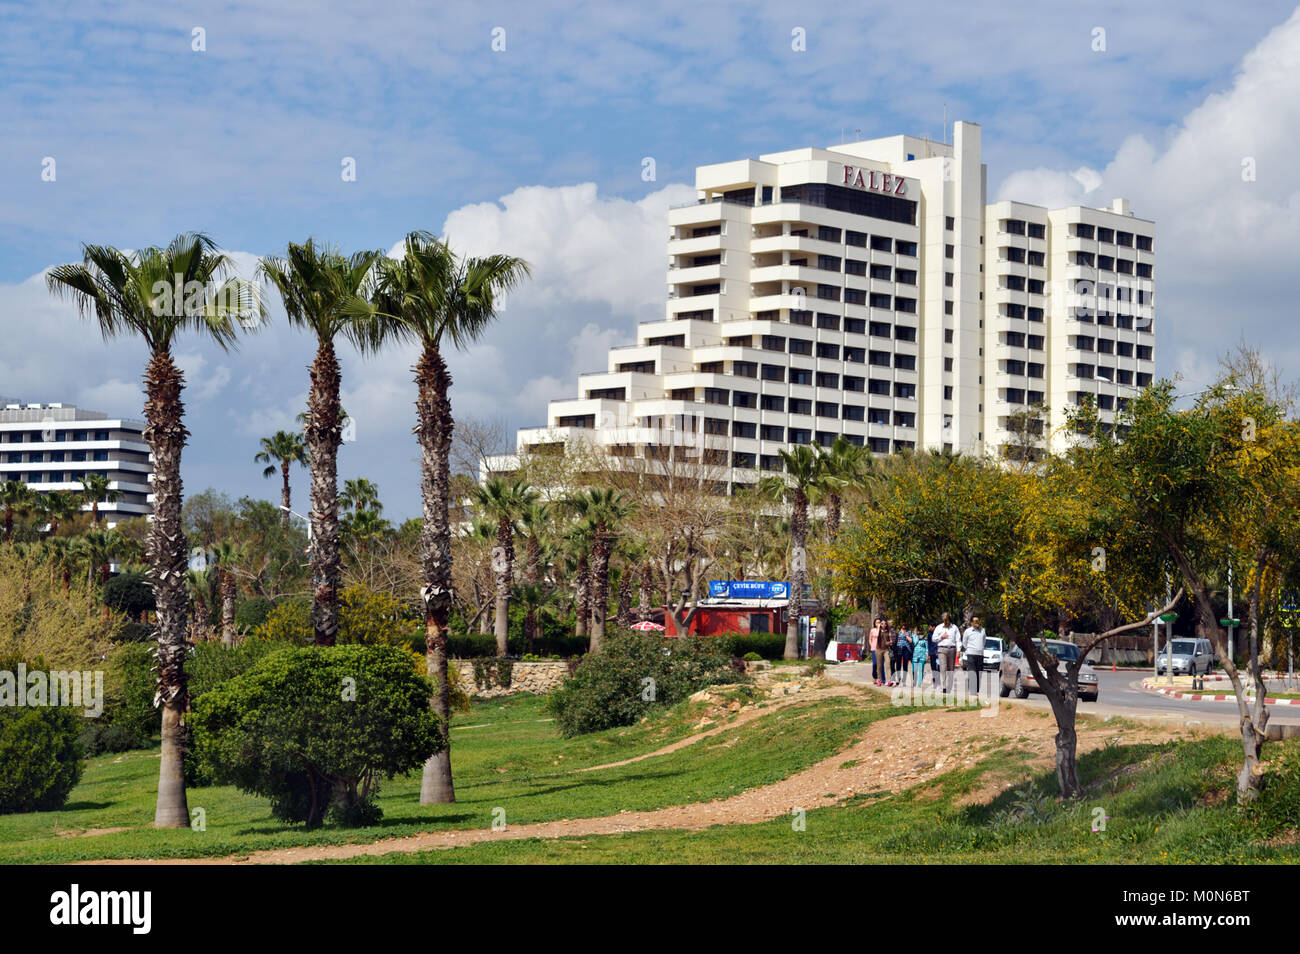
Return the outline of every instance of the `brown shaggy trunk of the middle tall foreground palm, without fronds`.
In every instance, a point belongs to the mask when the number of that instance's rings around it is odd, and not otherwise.
[[[317,646],[338,638],[338,357],[322,341],[311,368],[307,447],[312,471],[312,629]]]

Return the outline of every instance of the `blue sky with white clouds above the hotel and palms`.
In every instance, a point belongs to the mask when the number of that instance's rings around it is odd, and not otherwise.
[[[204,51],[194,51],[194,30]],[[1093,31],[1105,30],[1105,49]],[[792,49],[803,30],[806,49]],[[504,51],[491,48],[504,30]],[[498,34],[500,36],[500,34]],[[307,235],[390,248],[413,227],[534,263],[474,354],[459,413],[541,422],[663,309],[664,208],[696,165],[983,126],[989,198],[1157,220],[1158,368],[1190,381],[1245,335],[1294,377],[1300,185],[1294,4],[0,3],[0,394],[139,416],[143,352],[99,344],[39,273],[79,243],[200,229],[251,266]],[[641,178],[655,160],[654,182]],[[1244,183],[1240,159],[1258,160]],[[40,178],[53,157],[55,182]],[[356,160],[343,182],[341,161]],[[1089,174],[1076,174],[1080,169]],[[1102,185],[1086,191],[1086,185]],[[1096,199],[1096,201],[1093,201]],[[1226,315],[1228,320],[1226,318]],[[1167,317],[1167,322],[1164,321]],[[182,346],[185,480],[270,496],[257,437],[290,426],[309,342]],[[410,355],[344,367],[367,476],[417,504]],[[299,499],[306,476],[296,478]]]

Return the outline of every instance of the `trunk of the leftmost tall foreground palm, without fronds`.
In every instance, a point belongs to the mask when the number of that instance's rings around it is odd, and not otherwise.
[[[185,675],[186,591],[188,565],[181,525],[181,450],[188,432],[182,417],[185,378],[166,351],[155,351],[144,374],[144,439],[153,452],[153,521],[147,555],[157,606],[157,682],[162,704],[162,759],[155,828],[188,828],[185,798],[185,710],[188,686]]]

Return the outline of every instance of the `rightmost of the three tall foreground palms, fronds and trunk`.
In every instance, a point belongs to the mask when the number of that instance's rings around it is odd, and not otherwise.
[[[451,374],[442,356],[450,342],[465,348],[497,317],[502,296],[528,274],[523,259],[489,255],[462,259],[429,233],[406,237],[403,256],[380,263],[380,286],[372,302],[355,299],[351,312],[369,317],[369,344],[390,339],[415,342],[416,439],[420,443],[420,490],[424,524],[420,560],[425,597],[425,645],[429,676],[437,681],[433,704],[450,723],[447,682],[447,619],[451,613]],[[454,802],[450,747],[436,753],[424,767],[420,805]]]

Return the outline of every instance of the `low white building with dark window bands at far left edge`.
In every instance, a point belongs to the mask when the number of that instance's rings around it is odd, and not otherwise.
[[[100,503],[107,526],[153,513],[153,465],[144,424],[110,419],[73,404],[22,404],[0,399],[0,483],[18,481],[36,493],[79,493],[81,477],[101,473],[117,500]],[[84,504],[82,509],[90,509]]]

